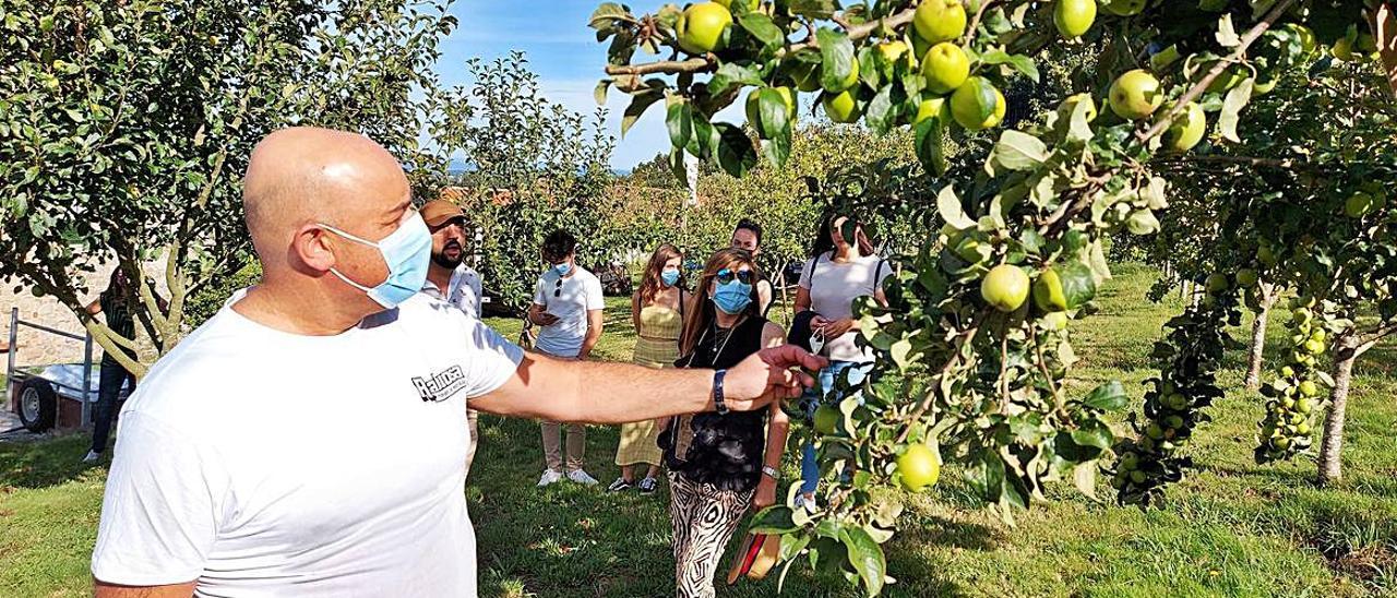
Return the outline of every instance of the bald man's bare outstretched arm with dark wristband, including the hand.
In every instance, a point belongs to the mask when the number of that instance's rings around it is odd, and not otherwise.
[[[760,409],[795,398],[814,379],[823,358],[798,347],[763,349],[728,369],[724,397],[729,409]],[[792,369],[796,370],[792,370]],[[629,363],[564,362],[525,353],[504,386],[471,400],[479,411],[555,422],[624,423],[712,411],[714,372],[655,370]]]

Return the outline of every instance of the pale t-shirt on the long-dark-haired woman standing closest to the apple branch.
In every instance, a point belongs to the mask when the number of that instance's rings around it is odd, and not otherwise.
[[[893,268],[877,256],[863,256],[841,264],[830,261],[830,254],[824,253],[816,260],[806,260],[805,270],[800,271],[800,288],[810,292],[810,309],[830,320],[840,320],[854,317],[854,299],[872,296],[890,274]],[[873,360],[870,351],[859,349],[854,342],[858,334],[851,330],[840,338],[826,340],[823,353],[837,362]]]

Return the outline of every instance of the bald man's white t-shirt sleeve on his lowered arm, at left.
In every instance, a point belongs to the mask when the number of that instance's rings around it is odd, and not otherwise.
[[[197,580],[222,521],[228,476],[212,447],[138,411],[122,415],[92,549],[92,577],[119,585]]]

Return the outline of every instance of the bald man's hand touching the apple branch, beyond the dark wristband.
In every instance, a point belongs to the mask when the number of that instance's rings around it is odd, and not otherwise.
[[[828,359],[795,345],[761,349],[728,369],[725,402],[733,411],[753,411],[777,398],[799,397],[805,387],[814,386],[814,377],[806,370],[819,372],[827,365]]]

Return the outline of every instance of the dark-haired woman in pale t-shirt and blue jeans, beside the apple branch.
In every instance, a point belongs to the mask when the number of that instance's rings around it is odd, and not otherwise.
[[[888,274],[891,270],[887,261],[877,256],[873,242],[856,218],[831,212],[820,219],[810,247],[810,260],[800,272],[800,288],[795,295],[796,313],[814,310],[810,328],[824,340],[819,353],[830,359],[830,365],[820,370],[820,391],[806,393],[806,407],[810,414],[821,402],[837,404],[844,400],[844,395],[830,391],[841,374],[847,372],[849,387],[855,387],[872,369],[873,353],[854,342],[858,337],[854,302],[873,296],[879,303],[887,305],[883,281]],[[820,393],[826,394],[821,397]],[[813,444],[806,444],[802,453],[802,485],[796,500],[806,509],[814,510],[820,465]]]

